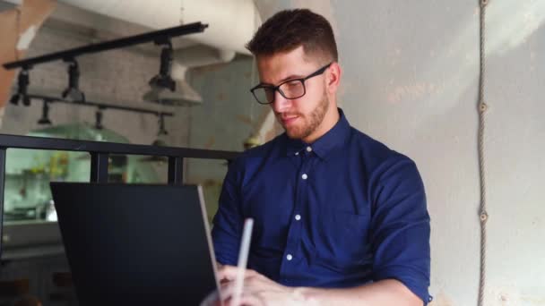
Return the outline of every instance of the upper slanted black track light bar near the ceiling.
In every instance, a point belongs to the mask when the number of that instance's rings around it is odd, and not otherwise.
[[[65,51],[59,51],[56,53],[48,55],[40,55],[37,57],[32,57],[24,59],[21,61],[10,62],[4,64],[5,69],[14,69],[14,68],[30,68],[35,64],[43,64],[48,62],[53,62],[57,60],[68,61],[74,59],[78,55],[97,53],[112,49],[117,49],[120,47],[129,47],[133,45],[143,44],[147,42],[155,42],[156,44],[163,43],[168,41],[169,38],[174,38],[177,36],[200,33],[208,28],[208,24],[202,22],[188,23],[186,25],[172,27],[164,30],[156,30],[152,32],[147,32],[139,35],[129,36],[126,38],[119,38],[114,40],[109,40],[97,44],[91,44],[82,47],[75,47],[73,49],[68,49]]]

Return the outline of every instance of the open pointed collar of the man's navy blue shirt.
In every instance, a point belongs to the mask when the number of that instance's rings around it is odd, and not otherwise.
[[[316,156],[325,158],[336,147],[342,145],[350,134],[350,123],[346,120],[341,108],[339,110],[339,121],[333,125],[333,128],[314,141],[307,144],[303,140],[290,139],[286,134],[286,154],[288,156],[298,155],[303,149],[310,147],[316,153]]]

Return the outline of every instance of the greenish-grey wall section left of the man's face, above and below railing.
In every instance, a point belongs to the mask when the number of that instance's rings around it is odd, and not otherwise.
[[[255,103],[249,91],[257,81],[253,58],[240,55],[229,64],[193,69],[188,80],[204,100],[202,106],[191,108],[189,146],[242,151],[244,140],[270,109]],[[203,183],[209,191],[205,193],[209,217],[216,212],[226,173],[224,161],[190,159],[187,163],[186,182]]]

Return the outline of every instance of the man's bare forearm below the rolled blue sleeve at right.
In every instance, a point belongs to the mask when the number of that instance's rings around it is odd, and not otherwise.
[[[422,306],[420,298],[394,279],[345,289],[300,287],[294,289],[297,299],[308,305],[381,305]]]

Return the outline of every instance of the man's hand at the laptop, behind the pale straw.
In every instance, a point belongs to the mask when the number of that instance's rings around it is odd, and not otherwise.
[[[238,306],[229,304],[236,276],[237,267],[223,266],[219,270],[221,297],[225,305]],[[308,305],[297,289],[275,283],[254,270],[246,270],[240,302],[247,306]]]

